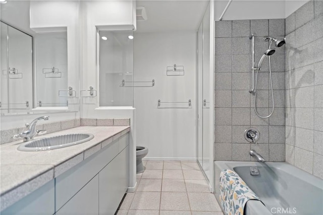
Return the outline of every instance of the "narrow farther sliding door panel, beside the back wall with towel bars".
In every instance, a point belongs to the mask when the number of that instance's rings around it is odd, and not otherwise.
[[[203,127],[202,127],[202,73],[203,73],[203,22],[200,24],[197,31],[197,160],[199,164],[203,165]]]

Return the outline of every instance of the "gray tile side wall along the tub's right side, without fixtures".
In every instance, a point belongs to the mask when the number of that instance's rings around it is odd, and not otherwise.
[[[323,178],[323,2],[286,18],[286,161]]]

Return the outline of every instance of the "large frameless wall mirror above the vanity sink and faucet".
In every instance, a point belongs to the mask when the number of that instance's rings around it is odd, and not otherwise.
[[[1,21],[1,114],[78,104],[78,2],[8,1]]]

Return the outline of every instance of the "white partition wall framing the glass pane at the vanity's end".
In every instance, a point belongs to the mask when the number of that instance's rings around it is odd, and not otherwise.
[[[132,30],[136,27],[135,1],[80,1],[82,49],[81,89],[99,89],[97,30]],[[134,108],[99,107],[97,97],[81,98],[82,118],[130,118],[130,187],[136,186],[136,121]],[[130,189],[131,191],[131,189]]]

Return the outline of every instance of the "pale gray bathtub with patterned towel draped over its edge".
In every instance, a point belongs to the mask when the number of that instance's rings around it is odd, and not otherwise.
[[[259,175],[250,175],[257,167]],[[214,190],[219,201],[220,172],[231,169],[239,174],[260,201],[250,200],[245,214],[323,214],[323,180],[285,162],[214,162]]]

